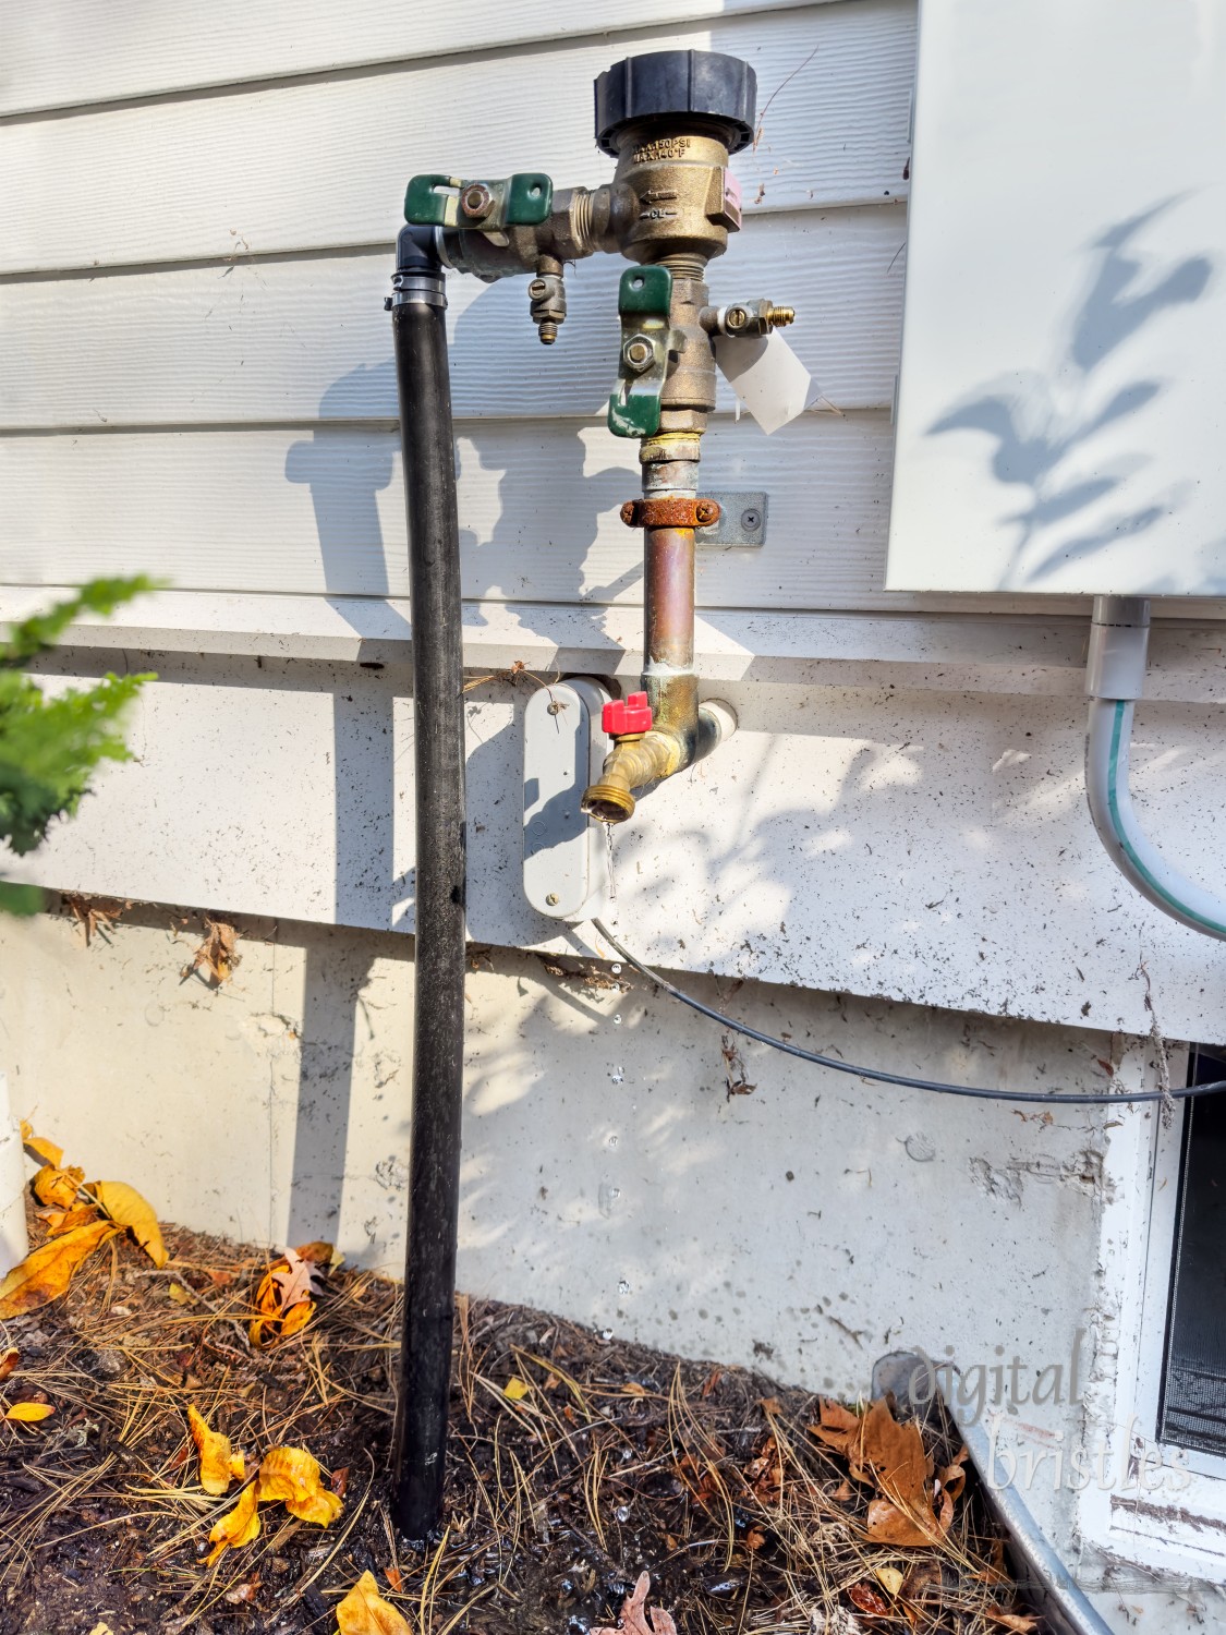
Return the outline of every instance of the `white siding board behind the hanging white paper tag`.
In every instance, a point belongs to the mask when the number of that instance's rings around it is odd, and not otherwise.
[[[757,217],[711,268],[713,299],[768,294],[799,312],[788,338],[840,409],[883,409],[897,370],[899,211]],[[570,273],[551,352],[523,278],[453,276],[459,415],[600,415],[618,352],[620,257]],[[10,284],[0,299],[0,425],[387,420],[397,414],[391,252]],[[723,409],[734,399],[723,387]]]

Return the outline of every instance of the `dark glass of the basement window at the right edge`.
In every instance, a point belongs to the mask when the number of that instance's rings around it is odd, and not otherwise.
[[[1216,1079],[1226,1050],[1193,1046],[1188,1084]],[[1226,1455],[1226,1095],[1185,1102],[1157,1434]]]

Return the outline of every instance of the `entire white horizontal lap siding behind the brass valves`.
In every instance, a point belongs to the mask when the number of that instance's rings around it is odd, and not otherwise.
[[[719,15],[677,0],[651,13],[678,23],[672,33],[644,28],[642,5],[623,0],[602,16],[615,33],[570,41],[541,38],[538,7],[490,20],[468,0],[446,39],[427,29],[412,49],[404,34],[376,49],[358,5],[355,57],[337,56],[335,16],[268,56],[280,11],[280,0],[245,7],[229,56],[217,54],[226,8],[183,11],[173,51],[157,31],[129,39],[128,75],[119,26],[92,90],[72,59],[52,65],[49,23],[46,83],[29,95],[95,106],[0,121],[0,580],[149,571],[185,590],[404,595],[383,296],[407,177],[544,168],[595,185],[610,175],[592,141],[595,74],[638,49],[695,46],[745,56],[760,87],[760,139],[737,159],[745,229],[711,268],[713,296],[794,306],[788,338],[822,394],[819,412],[765,438],[721,387],[706,482],[767,489],[770,520],[762,551],[703,554],[700,605],[917,605],[879,590],[912,0]],[[90,38],[83,0],[60,0],[52,18],[83,20]],[[155,60],[168,95],[101,105],[144,96]],[[185,88],[185,74],[204,85],[222,60],[245,62],[244,77],[314,77]],[[356,60],[381,65],[317,72]],[[602,423],[621,265],[572,270],[570,317],[549,352],[523,280],[450,280],[469,597],[641,597],[641,540],[618,520],[638,450]]]

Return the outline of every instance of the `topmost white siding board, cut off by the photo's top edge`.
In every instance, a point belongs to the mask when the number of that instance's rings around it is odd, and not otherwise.
[[[616,0],[610,29],[690,25],[726,11],[814,0]],[[293,74],[456,56],[597,33],[582,8],[556,0],[90,0],[0,3],[0,114],[237,85]]]

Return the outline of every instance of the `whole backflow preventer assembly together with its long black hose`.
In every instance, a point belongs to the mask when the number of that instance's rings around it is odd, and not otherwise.
[[[464,683],[445,268],[487,283],[528,275],[530,316],[551,345],[566,320],[566,263],[598,250],[633,263],[618,293],[608,425],[639,441],[642,495],[621,507],[621,518],[644,531],[644,669],[639,692],[603,708],[613,742],[582,798],[588,816],[621,822],[638,790],[701,760],[736,728],[726,705],[698,701],[695,530],[719,522],[719,504],[698,481],[716,404],[714,340],[765,337],[793,319],[790,307],[763,299],[714,307],[705,283],[706,263],[741,227],[729,155],[752,141],[755,88],[754,70],[736,57],[628,57],[595,87],[597,144],[616,159],[611,181],[554,190],[533,172],[500,181],[427,175],[414,177],[405,195],[409,226],[387,306],[409,515],[417,765],[410,1202],[392,1436],[396,1512],[410,1539],[425,1537],[441,1514],[464,1082]],[[760,526],[763,513],[749,515]],[[595,683],[572,690],[592,706],[602,697]],[[554,891],[544,903],[566,907]]]

